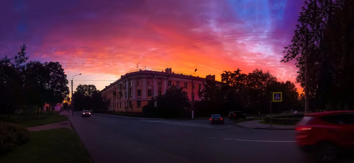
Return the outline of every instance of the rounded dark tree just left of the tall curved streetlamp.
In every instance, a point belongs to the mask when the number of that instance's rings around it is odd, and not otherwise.
[[[49,74],[46,79],[46,89],[48,95],[46,101],[50,104],[50,109],[53,114],[52,105],[62,102],[64,98],[69,95],[69,87],[67,86],[69,82],[66,79],[67,75],[65,75],[64,69],[59,62],[45,62],[44,66],[47,71],[46,73]]]

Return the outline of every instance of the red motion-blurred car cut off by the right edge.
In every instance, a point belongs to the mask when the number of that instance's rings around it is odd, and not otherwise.
[[[339,152],[354,147],[354,111],[306,114],[296,128],[298,146],[321,162],[332,162]]]

